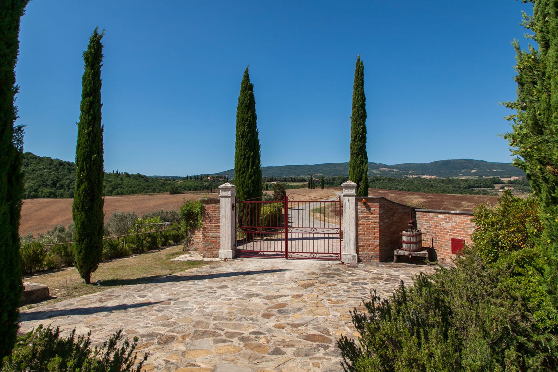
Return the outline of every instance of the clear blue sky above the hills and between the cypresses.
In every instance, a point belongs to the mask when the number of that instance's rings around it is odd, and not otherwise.
[[[74,161],[82,52],[105,28],[105,170],[234,166],[249,64],[262,166],[346,162],[354,64],[364,61],[368,159],[509,162],[513,38],[521,10],[489,1],[33,0],[22,18],[25,151]]]

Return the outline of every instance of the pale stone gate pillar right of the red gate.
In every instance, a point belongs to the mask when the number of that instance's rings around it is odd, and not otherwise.
[[[343,247],[341,261],[357,263],[357,184],[347,181],[343,187]]]

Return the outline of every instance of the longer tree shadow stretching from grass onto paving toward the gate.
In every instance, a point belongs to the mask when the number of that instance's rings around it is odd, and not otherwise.
[[[101,286],[103,287],[116,287],[116,286],[128,286],[130,284],[141,284],[141,283],[174,283],[174,282],[187,282],[187,281],[203,281],[205,279],[215,279],[215,278],[230,278],[230,277],[242,277],[248,275],[257,274],[272,274],[280,273],[283,271],[288,271],[288,269],[269,269],[269,270],[251,270],[251,271],[233,271],[228,273],[214,273],[205,275],[187,275],[182,276],[180,274],[171,275],[157,275],[136,279],[110,279],[107,281],[102,281]]]

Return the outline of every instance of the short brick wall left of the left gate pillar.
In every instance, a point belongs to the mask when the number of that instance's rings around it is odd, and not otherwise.
[[[220,200],[218,197],[200,199],[204,206],[201,214],[202,227],[194,234],[192,249],[201,252],[203,257],[219,257],[221,245]]]

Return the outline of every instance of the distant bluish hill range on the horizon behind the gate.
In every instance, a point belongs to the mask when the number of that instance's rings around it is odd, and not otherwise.
[[[234,170],[214,173],[215,175],[234,177]],[[349,163],[324,163],[315,165],[283,165],[277,167],[262,167],[264,177],[301,177],[322,175],[326,177],[343,176],[349,174]],[[514,167],[511,163],[493,163],[484,160],[454,159],[439,160],[430,163],[403,163],[387,165],[382,163],[368,163],[369,176],[386,177],[521,177],[525,172]]]

